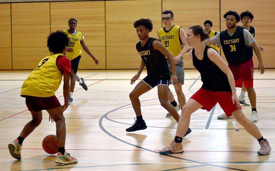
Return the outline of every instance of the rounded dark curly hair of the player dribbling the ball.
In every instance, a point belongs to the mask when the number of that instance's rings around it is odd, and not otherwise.
[[[69,46],[69,44],[70,39],[62,30],[50,33],[47,37],[47,47],[49,51],[53,53],[60,53],[65,49],[65,46]]]

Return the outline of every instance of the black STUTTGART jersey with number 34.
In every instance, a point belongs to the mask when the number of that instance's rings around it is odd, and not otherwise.
[[[245,45],[243,27],[237,26],[232,36],[229,36],[227,30],[221,31],[220,41],[225,58],[230,65],[242,64],[253,56],[249,46]]]

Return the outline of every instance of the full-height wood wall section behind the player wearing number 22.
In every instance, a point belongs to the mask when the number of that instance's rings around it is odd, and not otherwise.
[[[95,65],[82,49],[79,69],[106,69],[104,1],[51,2],[50,9],[51,32],[69,29],[68,20],[75,18],[76,30],[83,33],[85,44],[99,60],[99,65]]]

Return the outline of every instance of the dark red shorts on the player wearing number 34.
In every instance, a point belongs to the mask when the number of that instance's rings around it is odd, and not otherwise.
[[[233,73],[236,87],[253,87],[254,64],[252,58],[240,65],[228,65]]]

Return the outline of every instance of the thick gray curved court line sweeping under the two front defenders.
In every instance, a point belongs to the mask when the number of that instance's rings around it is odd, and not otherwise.
[[[127,105],[129,105],[129,104],[127,104]],[[121,106],[121,107],[125,107],[125,106],[127,106],[127,105],[124,105],[124,106]],[[127,141],[124,141],[124,140],[122,140],[122,139],[116,137],[115,135],[112,135],[110,132],[108,132],[108,131],[103,127],[103,124],[102,124],[103,118],[107,119],[107,116],[108,116],[109,113],[112,113],[113,111],[115,111],[115,110],[117,110],[117,109],[119,109],[119,108],[120,108],[120,107],[115,108],[115,109],[113,109],[113,110],[111,110],[111,111],[105,113],[104,115],[102,115],[102,117],[99,119],[99,127],[100,127],[100,129],[101,129],[103,132],[105,132],[107,135],[109,135],[110,137],[115,138],[116,140],[121,141],[121,142],[123,142],[123,143],[125,143],[125,144],[131,145],[131,146],[133,146],[133,147],[140,148],[140,149],[143,149],[143,150],[146,150],[146,151],[150,151],[150,152],[152,152],[152,153],[159,154],[157,151],[149,150],[149,149],[147,149],[147,148],[140,147],[140,146],[131,144],[131,143],[127,142]],[[159,154],[159,155],[160,155],[160,154]],[[233,169],[233,170],[242,170],[242,169],[236,169],[236,168],[232,168],[232,167],[218,166],[218,165],[215,165],[215,164],[209,164],[209,163],[199,162],[199,161],[195,161],[195,160],[189,160],[189,159],[180,158],[180,157],[171,156],[171,155],[165,155],[165,156],[173,157],[173,158],[180,159],[180,160],[186,160],[186,161],[193,162],[193,163],[199,163],[199,164],[203,164],[203,165],[207,165],[207,166],[214,166],[214,167],[220,167],[220,168],[226,168],[226,169]],[[247,171],[247,170],[243,170],[243,171]]]

